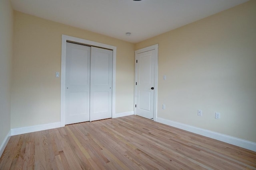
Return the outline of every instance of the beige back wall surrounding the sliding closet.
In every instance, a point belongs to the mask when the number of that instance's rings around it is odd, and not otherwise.
[[[133,43],[15,11],[11,128],[60,121],[62,34],[117,47],[116,113],[133,111]]]

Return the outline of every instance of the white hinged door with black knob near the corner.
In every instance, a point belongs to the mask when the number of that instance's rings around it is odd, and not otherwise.
[[[136,115],[154,119],[155,105],[155,69],[157,64],[157,50],[145,52],[137,51],[136,58]]]

